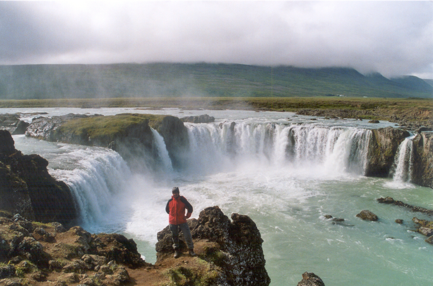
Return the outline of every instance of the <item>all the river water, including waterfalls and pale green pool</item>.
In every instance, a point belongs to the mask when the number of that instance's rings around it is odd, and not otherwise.
[[[236,110],[0,109],[36,111],[48,116],[207,113],[216,118],[209,124],[185,123],[191,153],[178,171],[171,167],[157,132],[163,167],[150,171],[152,166],[143,161],[140,172],[107,148],[13,136],[16,149],[45,157],[50,174],[70,186],[83,228],[133,238],[147,262],[155,263],[156,234],[168,225],[165,204],[171,188],[179,186],[194,206],[193,218],[208,206],[220,206],[229,217],[236,212],[254,220],[264,240],[271,286],[296,285],[305,271],[333,286],[433,284],[433,246],[413,231],[412,223],[414,216],[432,218],[376,201],[392,196],[433,209],[432,189],[410,183],[411,142],[402,143],[401,154],[396,154],[393,178],[364,176],[369,129],[393,123]],[[23,116],[29,121],[32,117]],[[236,122],[234,136],[231,122]],[[363,209],[379,221],[356,218]],[[333,224],[324,215],[345,221]]]

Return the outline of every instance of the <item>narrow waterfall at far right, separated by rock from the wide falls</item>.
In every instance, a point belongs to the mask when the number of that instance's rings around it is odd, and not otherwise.
[[[401,142],[397,149],[397,156],[394,159],[391,173],[393,173],[394,181],[410,182],[412,179],[412,168],[414,165],[414,143],[412,139],[415,135],[411,135]]]

